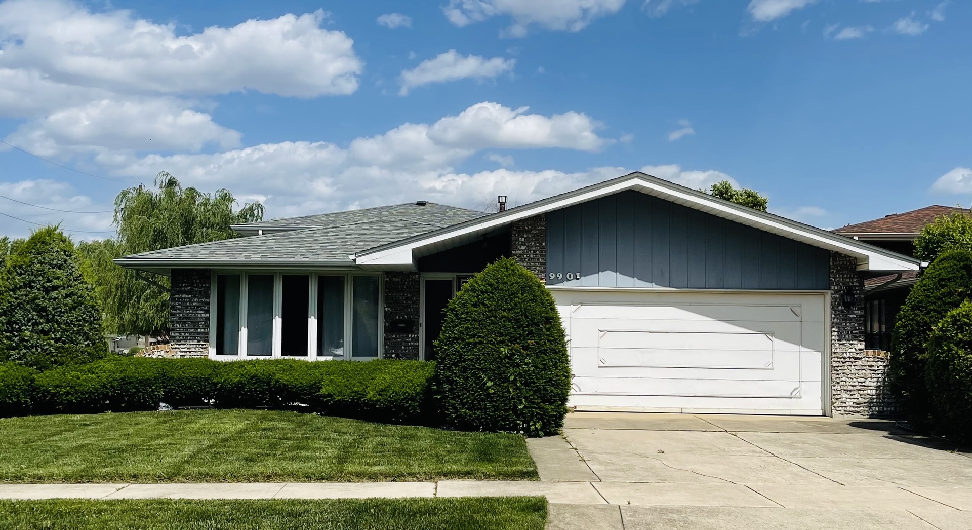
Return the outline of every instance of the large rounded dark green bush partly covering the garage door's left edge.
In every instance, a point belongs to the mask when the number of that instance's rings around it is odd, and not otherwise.
[[[571,391],[553,297],[504,258],[473,276],[445,309],[434,393],[447,425],[543,436],[563,426]]]

